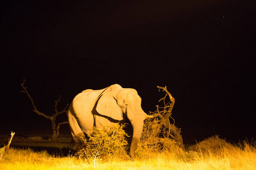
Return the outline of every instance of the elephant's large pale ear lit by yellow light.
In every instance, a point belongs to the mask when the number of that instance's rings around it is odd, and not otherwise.
[[[110,95],[104,94],[98,100],[96,111],[103,116],[108,116],[114,120],[123,120],[121,108],[117,105],[117,100]]]

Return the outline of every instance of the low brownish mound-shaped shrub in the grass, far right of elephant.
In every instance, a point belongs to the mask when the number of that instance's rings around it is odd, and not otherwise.
[[[204,141],[199,142],[197,145],[189,147],[191,152],[200,152],[201,154],[221,154],[224,150],[234,150],[234,145],[226,142],[225,139],[220,139],[218,135],[214,135]]]

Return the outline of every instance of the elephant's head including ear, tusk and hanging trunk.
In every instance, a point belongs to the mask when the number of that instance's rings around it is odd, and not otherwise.
[[[135,158],[135,148],[141,138],[143,121],[145,118],[150,117],[142,110],[141,97],[139,97],[137,91],[131,88],[110,91],[100,97],[96,111],[114,120],[123,120],[123,114],[127,115],[133,126],[130,156]]]

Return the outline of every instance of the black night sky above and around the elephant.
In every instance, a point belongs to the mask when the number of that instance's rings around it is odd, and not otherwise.
[[[0,134],[51,134],[87,88],[135,88],[145,112],[167,86],[184,142],[255,136],[254,1],[8,1],[1,5]],[[161,103],[162,104],[162,103]],[[65,115],[60,117],[65,120]],[[67,125],[60,133],[69,134]]]

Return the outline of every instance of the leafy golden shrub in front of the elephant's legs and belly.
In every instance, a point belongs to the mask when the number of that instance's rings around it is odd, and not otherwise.
[[[127,134],[123,130],[125,125],[104,126],[103,129],[93,128],[89,139],[84,139],[86,147],[77,152],[79,158],[91,159],[127,159]]]

